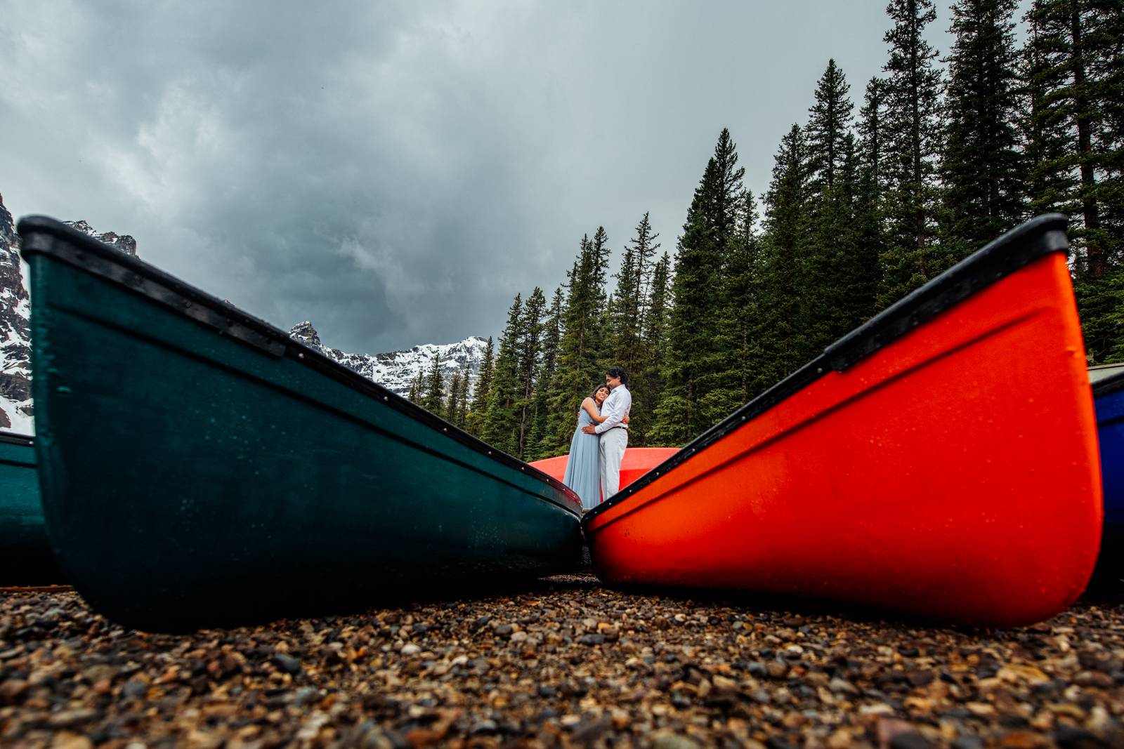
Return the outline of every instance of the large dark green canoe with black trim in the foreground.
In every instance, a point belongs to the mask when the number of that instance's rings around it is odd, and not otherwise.
[[[99,612],[184,631],[572,568],[580,502],[283,331],[42,217],[36,454]]]

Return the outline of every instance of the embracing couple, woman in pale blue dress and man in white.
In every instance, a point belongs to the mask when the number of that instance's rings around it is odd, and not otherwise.
[[[628,446],[631,410],[628,375],[620,367],[609,367],[605,384],[581,402],[562,483],[581,497],[586,510],[620,488],[620,460]]]

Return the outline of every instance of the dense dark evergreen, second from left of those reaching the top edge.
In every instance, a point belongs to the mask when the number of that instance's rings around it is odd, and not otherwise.
[[[1025,217],[1016,0],[958,0],[949,57],[941,244],[959,262]]]

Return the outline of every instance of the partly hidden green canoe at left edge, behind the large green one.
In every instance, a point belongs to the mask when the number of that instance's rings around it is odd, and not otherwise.
[[[47,542],[33,438],[0,431],[0,585],[63,582]]]

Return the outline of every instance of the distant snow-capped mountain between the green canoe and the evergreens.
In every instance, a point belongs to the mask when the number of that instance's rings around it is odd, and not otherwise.
[[[392,393],[404,396],[410,392],[410,384],[417,378],[418,372],[428,374],[429,367],[433,366],[434,354],[441,356],[441,373],[445,384],[448,384],[453,373],[460,372],[461,376],[468,374],[471,391],[480,375],[484,350],[488,348],[486,339],[470,336],[455,344],[423,344],[386,354],[347,354],[320,342],[320,336],[311,322],[294,325],[289,335],[368,380],[373,380]]]

